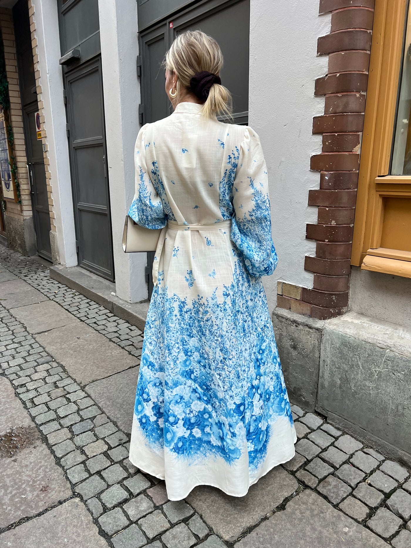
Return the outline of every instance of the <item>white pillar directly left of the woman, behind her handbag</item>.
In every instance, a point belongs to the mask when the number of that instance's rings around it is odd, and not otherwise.
[[[99,2],[99,17],[116,292],[121,299],[138,302],[148,296],[147,256],[125,254],[121,246],[125,214],[134,196],[134,144],[140,129],[137,4],[104,0]]]

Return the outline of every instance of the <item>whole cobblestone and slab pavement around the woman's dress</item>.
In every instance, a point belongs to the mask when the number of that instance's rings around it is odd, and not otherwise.
[[[0,546],[410,548],[410,471],[297,406],[246,497],[168,501],[128,460],[141,331],[2,247],[0,299]]]

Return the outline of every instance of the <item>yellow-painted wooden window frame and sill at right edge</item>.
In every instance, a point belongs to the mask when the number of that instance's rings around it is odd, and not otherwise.
[[[351,264],[411,278],[411,252],[381,247],[386,200],[411,199],[411,176],[388,175],[406,9],[407,0],[375,0]]]

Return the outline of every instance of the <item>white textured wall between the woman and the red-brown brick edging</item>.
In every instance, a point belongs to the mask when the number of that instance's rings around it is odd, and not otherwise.
[[[318,0],[250,2],[249,124],[259,134],[270,181],[273,240],[278,253],[274,274],[264,277],[270,311],[277,280],[312,287],[305,255],[315,242],[305,239],[317,208],[307,206],[319,173],[310,157],[321,152],[321,135],[312,135],[313,116],[324,114],[324,98],[314,97],[315,79],[328,70],[328,56],[317,57],[317,38],[329,33],[330,14],[318,16]]]

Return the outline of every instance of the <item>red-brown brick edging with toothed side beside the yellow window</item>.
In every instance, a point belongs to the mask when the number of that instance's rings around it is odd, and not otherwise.
[[[304,263],[314,283],[312,289],[277,285],[277,306],[318,319],[339,316],[348,306],[374,0],[320,0],[319,13],[328,12],[331,31],[317,43],[318,55],[328,55],[328,74],[315,83],[315,95],[325,96],[324,115],[313,119],[312,129],[322,134],[322,152],[310,165],[321,174],[319,189],[308,197],[310,206],[318,206],[318,218],[306,226],[316,254]]]

